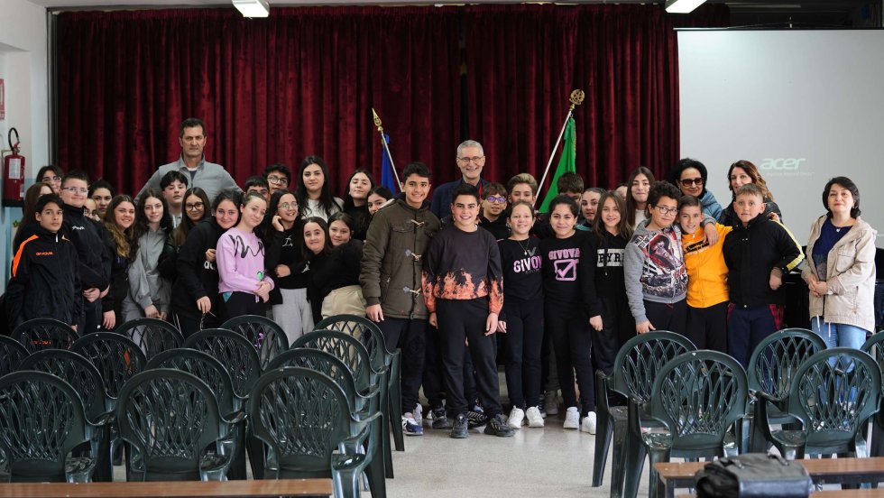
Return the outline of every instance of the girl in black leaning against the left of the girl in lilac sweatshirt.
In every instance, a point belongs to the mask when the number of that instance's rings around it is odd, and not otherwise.
[[[216,245],[221,235],[239,220],[241,198],[235,190],[218,194],[212,216],[194,226],[181,246],[175,265],[171,312],[184,337],[221,324]]]

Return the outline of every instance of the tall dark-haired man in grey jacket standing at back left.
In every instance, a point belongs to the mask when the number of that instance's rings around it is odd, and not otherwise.
[[[169,171],[180,171],[188,179],[191,187],[199,187],[206,190],[209,202],[213,202],[222,190],[233,189],[242,192],[236,185],[236,181],[230,176],[224,166],[206,161],[203,149],[206,147],[206,124],[201,119],[189,117],[181,123],[178,142],[181,145],[181,155],[178,161],[163,164],[160,169],[153,173],[150,180],[144,184],[141,192],[135,197],[137,201],[144,192],[160,190],[160,180]]]

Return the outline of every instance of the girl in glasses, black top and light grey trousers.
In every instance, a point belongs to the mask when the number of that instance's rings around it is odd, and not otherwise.
[[[298,201],[287,189],[273,192],[267,212],[271,229],[267,231],[264,261],[276,283],[270,293],[270,304],[273,320],[280,324],[291,344],[313,329],[313,311],[307,299],[309,274],[303,266],[303,221],[298,216]]]

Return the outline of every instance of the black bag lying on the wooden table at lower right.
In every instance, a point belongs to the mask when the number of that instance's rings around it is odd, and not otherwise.
[[[760,453],[719,458],[694,482],[698,498],[806,498],[814,485],[800,462]]]

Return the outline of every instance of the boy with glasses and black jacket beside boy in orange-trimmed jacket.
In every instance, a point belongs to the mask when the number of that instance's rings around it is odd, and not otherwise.
[[[77,324],[80,334],[95,332],[101,324],[101,300],[110,286],[111,256],[106,252],[101,227],[87,219],[83,205],[89,193],[89,179],[83,171],[71,171],[61,180],[64,211],[60,234],[77,249],[78,278],[82,309]]]

